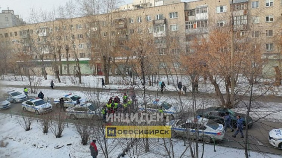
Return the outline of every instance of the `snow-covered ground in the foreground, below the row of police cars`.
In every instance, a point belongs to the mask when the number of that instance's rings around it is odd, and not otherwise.
[[[19,126],[18,120],[22,119],[21,117],[11,116],[9,114],[0,115],[0,144],[7,144],[5,147],[0,147],[0,157],[27,157],[27,158],[38,158],[38,157],[54,157],[54,158],[69,158],[71,157],[82,158],[82,157],[91,157],[89,146],[83,146],[80,143],[80,136],[75,131],[75,125],[69,124],[69,127],[65,127],[63,131],[63,136],[60,138],[55,138],[53,133],[49,130],[47,134],[43,134],[40,128],[39,123],[34,121],[32,124],[32,129],[30,131],[25,131],[22,127]],[[108,139],[109,144],[112,143],[114,150],[110,152],[110,157],[117,157],[126,144],[121,143],[117,139]],[[71,145],[67,145],[71,143]],[[154,144],[152,147],[152,152],[139,155],[139,157],[161,157],[160,155],[165,154],[161,143]],[[54,148],[56,145],[64,145],[61,148]],[[173,141],[175,156],[179,156],[180,153],[184,150],[186,146],[183,146],[183,141]],[[111,146],[111,145],[110,145]],[[200,150],[202,148],[202,143],[200,143]],[[100,151],[98,157],[104,157],[101,153],[101,146],[98,144],[98,149]],[[189,155],[189,152],[186,152],[185,155]],[[205,144],[205,153],[204,157],[233,157],[241,158],[244,157],[244,150],[216,146],[216,152],[214,152],[214,146],[210,144]],[[251,151],[250,155],[252,157],[272,157],[278,158],[280,155],[275,154],[266,154]],[[187,157],[185,156],[185,157]],[[126,155],[125,157],[129,157]],[[163,156],[162,156],[163,157]]]

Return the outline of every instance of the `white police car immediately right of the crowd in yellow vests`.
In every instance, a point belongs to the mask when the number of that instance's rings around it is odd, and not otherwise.
[[[139,110],[144,111],[145,105],[142,103],[138,106]],[[168,103],[163,101],[159,104],[159,101],[153,101],[152,103],[147,103],[146,109],[148,112],[159,112],[160,109],[163,110],[164,117],[169,117],[169,120],[174,119],[177,117],[177,112],[175,110],[175,107]]]

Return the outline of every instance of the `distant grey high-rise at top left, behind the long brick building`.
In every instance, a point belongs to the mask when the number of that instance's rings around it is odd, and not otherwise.
[[[0,28],[19,26],[25,23],[19,15],[15,15],[14,10],[8,8],[0,13]]]

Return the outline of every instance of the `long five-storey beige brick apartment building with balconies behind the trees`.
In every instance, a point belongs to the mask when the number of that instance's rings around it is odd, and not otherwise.
[[[193,39],[208,37],[214,28],[231,28],[233,16],[235,52],[244,51],[240,43],[254,41],[254,51],[255,47],[260,47],[262,57],[269,61],[263,71],[269,76],[274,75],[274,66],[278,66],[281,53],[276,39],[282,29],[282,0],[194,0],[159,5],[151,2],[154,6],[149,3],[135,0],[130,6],[136,7],[123,7],[111,12],[111,16],[99,14],[1,28],[0,51],[7,54],[8,60],[22,52],[33,61],[43,58],[49,74],[54,72],[58,61],[63,74],[67,74],[67,67],[74,72],[77,68],[74,58],[79,58],[82,74],[103,74],[101,41],[95,40],[96,37],[102,36],[122,46],[133,34],[146,34],[155,43],[155,56],[171,53],[181,57],[194,53]],[[137,7],[141,4],[142,7]],[[128,65],[125,66],[124,54],[113,53],[112,57],[115,63],[111,73],[125,71]],[[167,67],[177,70],[181,64],[175,61],[166,65],[161,58],[156,61],[160,73]],[[37,66],[41,67],[40,64]]]

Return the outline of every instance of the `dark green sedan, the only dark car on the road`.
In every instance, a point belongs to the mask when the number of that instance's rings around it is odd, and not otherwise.
[[[243,119],[243,125],[246,126],[245,114],[234,112],[226,107],[211,106],[206,109],[198,109],[197,115],[200,115],[201,117],[205,117],[208,119],[213,119],[217,123],[224,124],[223,116],[225,116],[226,111],[228,111],[229,115],[231,116],[231,125],[233,127],[236,127],[237,115],[241,116],[241,118]],[[253,125],[253,121],[250,116],[248,117],[248,122],[249,122],[248,127]]]

